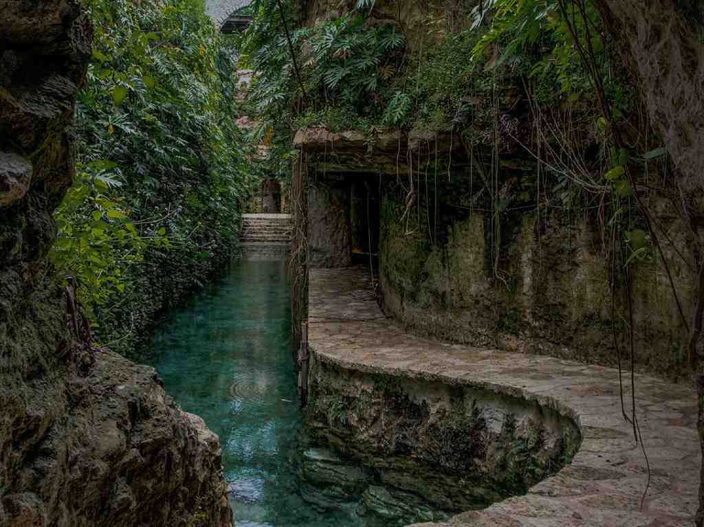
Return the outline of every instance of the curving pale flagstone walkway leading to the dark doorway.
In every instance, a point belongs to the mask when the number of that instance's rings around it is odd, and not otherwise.
[[[571,417],[583,442],[572,464],[529,493],[425,527],[692,526],[700,451],[696,395],[636,375],[638,418],[648,459],[622,417],[614,369],[417,338],[379,311],[364,269],[310,271],[312,353],[363,372],[478,386],[536,400]],[[629,412],[629,376],[624,376]],[[420,526],[421,524],[417,524]]]

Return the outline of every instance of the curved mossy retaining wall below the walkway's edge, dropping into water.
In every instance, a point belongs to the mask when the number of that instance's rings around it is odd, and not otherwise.
[[[389,525],[445,521],[522,495],[571,462],[582,442],[570,417],[520,397],[359,372],[315,354],[308,372],[310,444],[364,467],[366,480],[342,498]],[[329,495],[329,481],[317,477],[327,463],[315,464],[320,470],[303,476]]]

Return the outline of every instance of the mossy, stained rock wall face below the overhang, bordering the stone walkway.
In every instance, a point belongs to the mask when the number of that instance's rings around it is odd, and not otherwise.
[[[379,270],[386,314],[411,331],[448,341],[615,366],[611,263],[598,217],[521,210],[519,202],[512,205],[516,212],[502,215],[497,230],[489,212],[458,208],[463,194],[455,191],[453,198],[446,184],[440,186],[438,207],[421,207],[420,222],[413,217],[408,227],[399,222],[406,193],[386,180]],[[429,201],[434,203],[432,190]],[[692,261],[689,229],[668,215],[666,205],[660,210],[658,223]],[[689,316],[693,272],[674,248],[665,251]],[[636,369],[685,381],[687,334],[665,269],[658,258],[633,267]],[[629,365],[621,281],[613,307]]]

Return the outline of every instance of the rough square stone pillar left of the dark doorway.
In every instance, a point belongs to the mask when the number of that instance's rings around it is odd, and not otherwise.
[[[349,267],[352,262],[348,182],[311,182],[308,187],[308,265]]]

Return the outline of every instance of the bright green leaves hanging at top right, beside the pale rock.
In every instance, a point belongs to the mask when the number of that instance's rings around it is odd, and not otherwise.
[[[483,6],[483,11],[477,7],[471,15],[474,30],[485,28],[472,49],[474,61],[482,61],[486,51],[497,46],[501,55],[496,65],[509,65],[537,81],[537,102],[595,101],[593,72],[584,63],[582,49],[603,73],[614,118],[620,120],[633,110],[637,94],[612,71],[618,61],[612,60],[591,1],[489,0]]]

